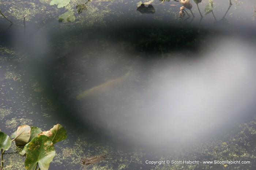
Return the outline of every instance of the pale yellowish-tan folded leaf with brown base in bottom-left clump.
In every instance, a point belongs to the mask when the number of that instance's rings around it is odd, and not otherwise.
[[[16,146],[25,146],[29,142],[31,128],[29,125],[21,125],[16,131],[15,140]]]

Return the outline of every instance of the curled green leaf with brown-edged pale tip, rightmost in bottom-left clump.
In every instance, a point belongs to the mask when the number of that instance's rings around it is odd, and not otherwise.
[[[67,131],[61,124],[56,124],[49,131],[44,131],[39,135],[45,135],[52,140],[53,144],[67,138]]]

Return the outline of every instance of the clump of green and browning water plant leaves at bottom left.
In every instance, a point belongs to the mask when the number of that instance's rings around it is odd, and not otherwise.
[[[60,124],[56,124],[49,131],[44,132],[38,127],[20,125],[11,137],[14,139],[11,140],[8,135],[0,132],[0,170],[4,169],[4,152],[11,147],[13,141],[15,141],[16,146],[24,147],[20,154],[26,154],[26,170],[48,170],[50,162],[56,154],[53,144],[66,139],[67,132]]]

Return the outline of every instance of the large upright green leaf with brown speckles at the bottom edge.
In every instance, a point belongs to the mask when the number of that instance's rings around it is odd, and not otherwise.
[[[26,170],[34,170],[37,163],[41,170],[48,170],[55,156],[55,148],[47,136],[40,135],[33,138],[27,145],[26,154]]]

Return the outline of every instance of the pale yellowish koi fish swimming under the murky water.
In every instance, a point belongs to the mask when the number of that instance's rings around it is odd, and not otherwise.
[[[119,77],[119,78],[116,78],[114,80],[110,80],[108,82],[105,82],[101,85],[98,85],[98,86],[95,86],[93,88],[90,88],[88,90],[85,90],[81,93],[79,93],[77,96],[76,96],[76,100],[80,100],[84,97],[88,97],[88,96],[91,96],[93,94],[97,94],[99,92],[106,92],[108,89],[110,88],[113,88],[113,86],[116,86],[118,84],[120,84],[121,82],[123,82],[130,74],[130,71],[129,70],[124,76],[122,77]]]

